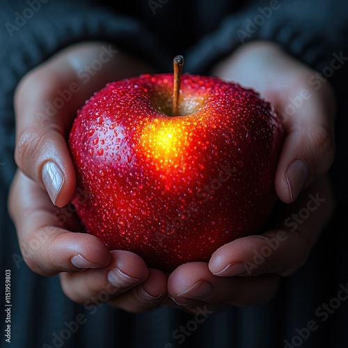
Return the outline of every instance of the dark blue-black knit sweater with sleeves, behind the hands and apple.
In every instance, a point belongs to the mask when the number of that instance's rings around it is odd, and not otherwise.
[[[306,265],[283,280],[269,303],[244,309],[226,307],[201,315],[200,324],[194,316],[169,308],[133,315],[107,305],[77,305],[63,294],[58,276],[44,278],[26,267],[6,208],[15,173],[13,94],[19,79],[54,52],[82,40],[106,40],[151,61],[159,72],[171,70],[173,56],[184,54],[185,70],[200,74],[209,74],[214,63],[249,40],[278,42],[321,73],[329,71],[333,54],[348,56],[348,1],[344,0],[118,2],[0,3],[1,347],[278,348],[299,347],[302,341],[301,347],[348,347],[348,301],[340,301],[327,317],[322,309],[341,287],[348,287],[347,145],[343,137],[348,74],[344,63],[331,79],[339,102],[338,155],[331,170],[338,201],[335,216]],[[10,344],[5,341],[3,305],[6,269],[11,271],[13,303]],[[313,320],[316,329],[304,330]],[[78,329],[75,322],[79,322]],[[180,326],[188,334],[180,333]]]

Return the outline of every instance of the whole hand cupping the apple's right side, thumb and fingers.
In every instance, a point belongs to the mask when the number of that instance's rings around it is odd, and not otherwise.
[[[283,118],[285,142],[275,177],[283,203],[274,214],[274,229],[221,246],[209,263],[191,262],[173,271],[168,295],[193,311],[200,303],[216,308],[271,299],[280,276],[290,276],[306,262],[333,209],[324,175],[334,154],[331,86],[313,84],[313,70],[269,42],[244,45],[213,74],[255,88]],[[296,220],[292,214],[299,212]]]

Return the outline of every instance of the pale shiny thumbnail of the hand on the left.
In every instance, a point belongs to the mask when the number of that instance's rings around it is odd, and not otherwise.
[[[55,204],[64,182],[64,175],[54,162],[46,162],[42,168],[42,181],[49,198]]]

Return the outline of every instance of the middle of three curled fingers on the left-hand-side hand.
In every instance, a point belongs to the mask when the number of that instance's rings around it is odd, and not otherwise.
[[[106,302],[111,296],[129,291],[149,276],[140,256],[129,251],[111,251],[111,262],[103,269],[61,274],[65,294],[77,303]]]

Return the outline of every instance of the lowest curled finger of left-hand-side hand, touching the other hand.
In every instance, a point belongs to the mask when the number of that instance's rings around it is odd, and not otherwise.
[[[131,313],[143,313],[159,306],[166,296],[167,278],[158,269],[149,269],[148,278],[132,290],[109,300],[113,307]]]

